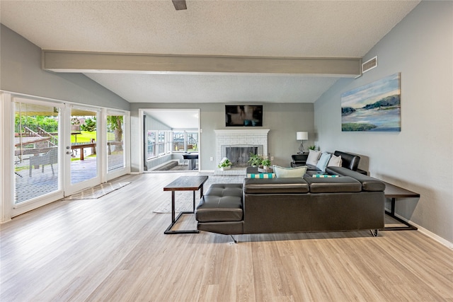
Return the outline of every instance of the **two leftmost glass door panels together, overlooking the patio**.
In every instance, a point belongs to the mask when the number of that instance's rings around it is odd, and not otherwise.
[[[11,104],[13,216],[101,183],[99,110],[28,98]]]

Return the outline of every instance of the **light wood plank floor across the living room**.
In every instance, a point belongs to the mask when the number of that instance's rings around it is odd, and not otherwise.
[[[453,301],[453,250],[419,231],[164,235],[180,175],[2,224],[0,301]]]

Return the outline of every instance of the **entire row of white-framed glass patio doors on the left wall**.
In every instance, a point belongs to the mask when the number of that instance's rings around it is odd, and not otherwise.
[[[0,221],[130,173],[127,111],[0,91]]]

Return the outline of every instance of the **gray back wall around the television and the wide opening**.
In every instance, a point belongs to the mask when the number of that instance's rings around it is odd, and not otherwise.
[[[258,104],[259,102],[250,103]],[[297,153],[300,141],[296,141],[297,131],[308,131],[309,141],[304,141],[304,146],[313,144],[314,141],[314,106],[311,103],[260,103],[263,104],[263,127],[270,129],[268,134],[269,155],[274,156],[273,163],[289,167],[291,155]],[[149,108],[171,109],[200,109],[200,167],[201,170],[214,170],[215,162],[215,133],[214,129],[226,129],[224,103],[131,103],[131,120],[138,122],[138,110]],[[132,129],[133,146],[139,144],[142,134],[134,126]],[[229,127],[229,129],[243,129],[243,127]],[[132,148],[132,167],[139,167],[139,150]],[[210,157],[214,161],[210,161]],[[136,170],[137,171],[137,170]]]

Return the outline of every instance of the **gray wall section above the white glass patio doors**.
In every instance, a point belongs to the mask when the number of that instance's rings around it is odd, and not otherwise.
[[[129,103],[83,74],[41,69],[38,46],[3,24],[0,28],[0,89],[74,103],[129,110]]]

